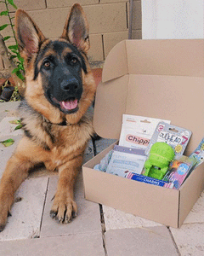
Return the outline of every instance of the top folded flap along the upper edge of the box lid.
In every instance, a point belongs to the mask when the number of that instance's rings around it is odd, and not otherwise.
[[[204,40],[125,40],[105,59],[102,82],[125,74],[204,76]]]

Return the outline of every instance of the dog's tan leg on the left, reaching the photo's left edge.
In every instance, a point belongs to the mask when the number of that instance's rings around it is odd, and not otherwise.
[[[0,232],[7,224],[10,208],[14,202],[14,193],[28,176],[29,170],[40,162],[35,152],[37,148],[29,147],[28,140],[23,138],[13,156],[8,160],[0,183]],[[40,153],[40,152],[39,152]]]

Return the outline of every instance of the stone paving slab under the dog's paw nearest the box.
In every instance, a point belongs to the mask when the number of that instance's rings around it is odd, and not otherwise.
[[[76,191],[77,218],[74,218],[70,224],[58,224],[54,219],[50,218],[49,212],[53,204],[52,199],[57,188],[57,181],[58,177],[49,177],[41,237],[101,232],[99,204],[86,201],[83,196],[82,185],[79,184],[77,188],[80,189]],[[78,179],[78,182],[82,183],[82,179]]]

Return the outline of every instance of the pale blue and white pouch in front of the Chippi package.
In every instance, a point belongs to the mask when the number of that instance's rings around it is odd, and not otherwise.
[[[121,177],[126,177],[128,172],[140,174],[145,160],[144,150],[115,145],[106,172]]]

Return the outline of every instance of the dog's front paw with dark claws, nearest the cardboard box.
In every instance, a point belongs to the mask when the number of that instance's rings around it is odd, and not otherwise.
[[[50,211],[50,217],[59,223],[70,223],[77,217],[77,203],[67,197],[65,200],[54,198],[54,204]]]

